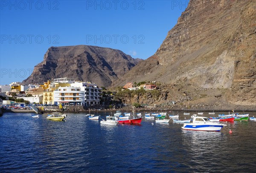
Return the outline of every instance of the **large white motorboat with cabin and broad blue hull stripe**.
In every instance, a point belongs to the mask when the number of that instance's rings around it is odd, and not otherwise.
[[[192,123],[184,123],[184,130],[199,130],[199,131],[220,131],[224,124],[219,122],[210,122],[207,117],[196,116]]]

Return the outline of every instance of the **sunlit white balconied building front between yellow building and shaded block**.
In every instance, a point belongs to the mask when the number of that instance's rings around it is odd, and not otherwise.
[[[55,105],[84,105],[84,91],[79,87],[59,87],[53,91]]]

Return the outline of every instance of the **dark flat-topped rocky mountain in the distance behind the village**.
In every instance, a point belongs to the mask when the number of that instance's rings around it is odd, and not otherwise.
[[[23,83],[42,83],[52,78],[70,77],[108,86],[140,60],[122,51],[98,46],[50,47],[44,60],[35,66],[31,76]]]

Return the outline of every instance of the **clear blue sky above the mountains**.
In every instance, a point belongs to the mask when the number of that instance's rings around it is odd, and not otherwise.
[[[29,77],[51,46],[153,55],[189,0],[0,1],[0,85]]]

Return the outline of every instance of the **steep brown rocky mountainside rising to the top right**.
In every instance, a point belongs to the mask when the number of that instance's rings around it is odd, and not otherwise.
[[[126,80],[179,85],[191,96],[221,89],[230,104],[255,105],[256,2],[190,0],[156,53],[116,84]]]

